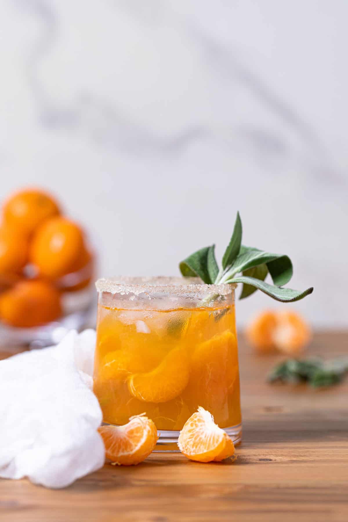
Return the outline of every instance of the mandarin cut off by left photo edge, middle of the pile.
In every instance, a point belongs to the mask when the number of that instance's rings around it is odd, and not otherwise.
[[[25,234],[12,226],[0,227],[0,274],[17,272],[28,259],[29,242]]]

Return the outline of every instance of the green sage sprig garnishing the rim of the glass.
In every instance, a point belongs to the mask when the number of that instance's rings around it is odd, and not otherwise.
[[[313,287],[303,291],[283,288],[293,275],[289,256],[242,245],[242,220],[239,212],[220,269],[215,258],[215,245],[194,252],[179,264],[179,269],[184,277],[198,276],[206,284],[243,283],[239,299],[261,290],[277,301],[291,302],[303,299],[313,292]],[[268,274],[273,284],[265,282]]]

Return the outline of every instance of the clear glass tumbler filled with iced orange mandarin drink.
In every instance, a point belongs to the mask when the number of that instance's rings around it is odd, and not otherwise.
[[[107,424],[146,412],[157,450],[177,450],[198,406],[237,443],[241,405],[232,284],[198,278],[97,281],[94,392]]]

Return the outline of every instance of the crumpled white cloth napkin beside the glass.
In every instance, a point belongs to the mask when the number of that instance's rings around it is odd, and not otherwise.
[[[95,331],[0,361],[0,477],[64,488],[101,468],[92,388]]]

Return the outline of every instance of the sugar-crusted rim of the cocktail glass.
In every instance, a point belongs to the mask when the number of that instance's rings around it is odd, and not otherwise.
[[[95,283],[98,292],[112,294],[232,294],[236,288],[235,283],[229,284],[205,284],[199,277],[109,277],[101,278]]]

